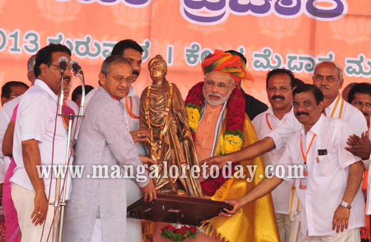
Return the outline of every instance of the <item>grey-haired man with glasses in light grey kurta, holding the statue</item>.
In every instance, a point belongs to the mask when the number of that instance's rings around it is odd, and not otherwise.
[[[133,83],[132,73],[131,64],[122,56],[109,56],[101,65],[101,86],[86,107],[76,142],[75,164],[84,165],[86,169],[81,179],[73,179],[71,200],[66,206],[63,241],[90,242],[96,219],[101,219],[103,242],[128,241],[126,236],[131,231],[126,233],[123,168],[120,169],[121,178],[89,179],[93,165],[106,166],[109,171],[115,165],[132,166],[144,199],[156,199],[156,190],[128,131],[120,102]],[[143,174],[139,172],[141,168]]]

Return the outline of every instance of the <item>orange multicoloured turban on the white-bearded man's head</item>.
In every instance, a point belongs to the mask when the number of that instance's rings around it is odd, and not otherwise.
[[[235,80],[236,84],[240,83],[241,79],[253,81],[253,77],[248,72],[240,56],[234,56],[228,52],[215,50],[213,54],[205,57],[201,63],[201,67],[204,75],[213,70],[228,73]]]

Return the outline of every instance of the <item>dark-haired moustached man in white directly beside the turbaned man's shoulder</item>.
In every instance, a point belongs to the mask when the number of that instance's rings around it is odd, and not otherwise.
[[[293,88],[295,77],[290,70],[275,69],[267,75],[267,95],[270,107],[253,119],[253,125],[259,139],[277,127],[283,116],[290,112],[293,106]],[[265,165],[275,165],[285,149],[281,148],[277,153],[266,152],[263,154]],[[277,221],[280,241],[288,242],[290,238],[290,194],[291,186],[283,182],[272,191],[273,204],[275,206],[275,218]]]

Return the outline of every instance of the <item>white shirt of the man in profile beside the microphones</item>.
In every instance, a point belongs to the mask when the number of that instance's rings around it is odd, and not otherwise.
[[[63,120],[56,116],[57,95],[42,80],[36,79],[35,84],[22,95],[16,115],[14,127],[13,157],[16,162],[13,177],[10,181],[26,189],[33,190],[29,176],[24,169],[21,142],[24,140],[39,141],[41,165],[64,165],[66,161],[66,147],[68,133]],[[55,134],[54,134],[55,131]],[[54,144],[54,148],[53,148]],[[52,152],[54,158],[52,161]],[[73,157],[71,157],[71,164]],[[46,195],[54,196],[56,178],[44,177]],[[71,192],[71,176],[67,172],[66,199]]]

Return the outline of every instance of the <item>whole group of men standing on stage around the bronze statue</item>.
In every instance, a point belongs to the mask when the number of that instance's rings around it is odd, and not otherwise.
[[[101,65],[98,88],[86,86],[85,117],[73,126],[77,135],[70,164],[131,165],[134,171],[156,164],[141,144],[150,132],[139,128],[141,98],[132,85],[141,73],[142,53],[136,41],[119,41]],[[61,83],[61,57],[71,61],[66,46],[41,48],[27,63],[31,88],[16,81],[1,88],[0,191],[6,241],[51,241],[53,202],[62,188],[56,189],[55,177],[40,177],[37,167],[65,164],[68,120],[56,115],[60,86],[62,112],[70,115],[78,114],[83,89],[77,87],[72,100],[67,99],[72,75],[67,66]],[[340,95],[344,80],[335,62],[317,63],[312,84],[278,68],[266,78],[268,107],[241,88],[249,77],[245,64],[236,51],[217,50],[203,61],[205,80],[190,89],[184,102],[187,110],[200,112],[198,120],[191,120],[193,111],[188,112],[189,122],[197,126],[192,130],[195,152],[200,164],[219,169],[228,162],[233,172],[236,164],[256,164],[257,174],[264,174],[265,166],[281,165],[285,175],[276,169],[250,183],[200,178],[203,194],[226,200],[233,210],[210,219],[210,229],[201,231],[197,241],[360,241],[365,214],[371,214],[371,179],[364,180],[367,194],[361,190],[371,153],[371,84],[352,83]],[[230,132],[235,127],[238,132]],[[235,148],[230,150],[224,143],[231,134]],[[293,165],[303,168],[299,177],[290,177]],[[148,239],[140,220],[126,219],[127,205],[141,196],[156,199],[148,173],[140,180],[88,179],[89,172],[66,178],[63,241]],[[156,229],[153,240],[161,241]]]

